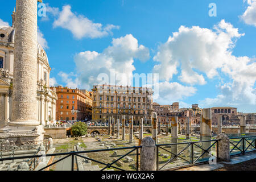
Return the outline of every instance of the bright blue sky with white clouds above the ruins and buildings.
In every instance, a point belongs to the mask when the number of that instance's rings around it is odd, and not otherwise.
[[[39,42],[52,68],[51,84],[90,90],[110,68],[127,76],[159,73],[159,104],[256,112],[256,1],[44,3]],[[216,17],[208,14],[210,3]],[[11,24],[15,1],[1,6],[0,26]]]

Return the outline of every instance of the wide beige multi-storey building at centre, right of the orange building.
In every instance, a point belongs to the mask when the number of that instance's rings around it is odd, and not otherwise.
[[[109,122],[109,117],[126,121],[133,115],[134,123],[144,118],[144,123],[151,123],[152,94],[151,88],[96,85],[93,86],[92,121]]]

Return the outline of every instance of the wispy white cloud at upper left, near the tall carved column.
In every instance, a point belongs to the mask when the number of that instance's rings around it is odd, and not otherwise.
[[[114,26],[113,24],[108,24],[104,27],[101,23],[94,23],[84,15],[76,15],[71,11],[70,5],[63,6],[61,11],[48,6],[47,11],[57,16],[57,19],[53,22],[53,27],[65,28],[71,31],[77,39],[102,38],[112,34],[113,29],[119,29],[119,26]]]

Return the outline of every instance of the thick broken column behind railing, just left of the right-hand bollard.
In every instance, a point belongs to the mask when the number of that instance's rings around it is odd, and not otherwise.
[[[210,140],[212,137],[212,111],[210,108],[208,109],[203,109],[202,110],[202,115],[201,115],[201,131],[202,133],[200,133],[200,140]],[[207,148],[210,147],[211,142],[203,142],[202,143],[202,148],[204,148],[204,150],[207,150]],[[202,150],[202,154],[204,152],[204,150]],[[210,152],[211,149],[208,150],[208,152]],[[209,153],[206,152],[202,158],[208,158],[209,157]]]

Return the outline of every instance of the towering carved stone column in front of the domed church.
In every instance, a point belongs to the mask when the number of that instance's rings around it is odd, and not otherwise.
[[[16,0],[14,39],[13,117],[9,126],[38,126],[37,2]]]

